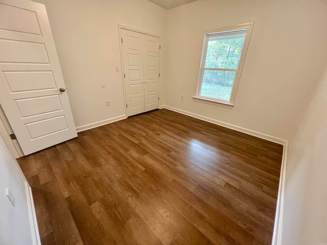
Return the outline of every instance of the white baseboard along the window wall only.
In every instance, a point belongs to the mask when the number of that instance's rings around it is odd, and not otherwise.
[[[236,130],[236,131],[248,134],[248,135],[252,135],[252,136],[255,136],[255,137],[258,137],[258,138],[261,138],[261,139],[265,139],[265,140],[277,143],[277,144],[285,145],[287,143],[287,140],[285,140],[285,139],[270,136],[268,134],[259,133],[259,132],[256,132],[256,131],[253,131],[253,130],[250,130],[250,129],[245,129],[245,128],[236,126],[236,125],[227,124],[227,122],[223,122],[223,121],[219,121],[219,120],[216,120],[216,119],[213,119],[213,118],[201,116],[201,115],[198,115],[198,114],[194,114],[192,112],[183,111],[183,110],[180,110],[180,109],[177,109],[177,108],[174,108],[174,107],[162,105],[162,106],[159,107],[159,109],[167,109],[167,110],[170,110],[170,111],[178,112],[178,113],[184,114],[186,116],[191,116],[191,117],[203,120],[203,121],[211,122],[212,124],[216,124],[216,125],[228,128],[228,129]]]

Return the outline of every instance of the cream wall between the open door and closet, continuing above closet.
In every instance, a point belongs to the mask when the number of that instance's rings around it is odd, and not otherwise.
[[[163,35],[166,10],[146,0],[35,2],[48,12],[76,127],[124,115],[118,24]]]

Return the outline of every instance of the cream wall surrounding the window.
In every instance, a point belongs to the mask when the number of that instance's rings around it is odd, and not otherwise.
[[[199,0],[168,10],[165,105],[291,139],[327,63],[326,16],[326,1]],[[203,30],[247,22],[254,28],[235,107],[193,101]]]

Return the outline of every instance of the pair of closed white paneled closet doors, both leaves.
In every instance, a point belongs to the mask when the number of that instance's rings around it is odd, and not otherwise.
[[[122,29],[127,116],[158,108],[160,38]]]

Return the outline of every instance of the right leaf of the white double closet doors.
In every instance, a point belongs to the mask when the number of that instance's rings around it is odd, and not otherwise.
[[[149,35],[144,37],[144,92],[145,111],[159,107],[159,61],[160,38]]]

